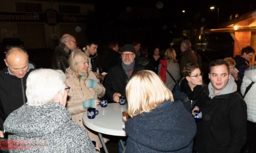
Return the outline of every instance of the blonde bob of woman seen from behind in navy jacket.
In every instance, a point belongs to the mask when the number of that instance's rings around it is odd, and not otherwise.
[[[164,101],[174,101],[172,92],[150,70],[141,70],[133,75],[126,85],[126,98],[129,104],[127,112],[131,117],[151,112]]]

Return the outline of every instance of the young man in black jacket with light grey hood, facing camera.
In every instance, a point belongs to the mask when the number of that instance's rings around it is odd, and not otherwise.
[[[240,152],[246,142],[246,103],[237,92],[226,61],[212,61],[208,86],[203,87],[194,110],[201,110],[194,149],[199,152]]]

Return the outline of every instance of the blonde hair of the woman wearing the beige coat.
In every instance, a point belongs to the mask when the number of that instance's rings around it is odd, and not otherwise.
[[[78,65],[84,60],[88,61],[88,57],[86,53],[81,52],[79,50],[74,50],[69,57],[68,63],[70,68],[75,72],[76,77],[80,80],[81,76],[78,73]],[[88,72],[87,72],[88,73]],[[88,75],[87,75],[88,77]]]

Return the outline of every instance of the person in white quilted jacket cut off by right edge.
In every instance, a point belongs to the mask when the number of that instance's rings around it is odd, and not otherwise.
[[[256,66],[244,71],[241,93],[247,105],[247,139],[244,152],[256,152]],[[247,93],[245,93],[247,91]]]

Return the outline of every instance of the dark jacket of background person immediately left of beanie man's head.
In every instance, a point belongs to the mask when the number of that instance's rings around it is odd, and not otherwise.
[[[110,68],[116,66],[120,61],[120,53],[113,49],[109,49],[109,53],[105,57],[105,72],[109,72]]]

